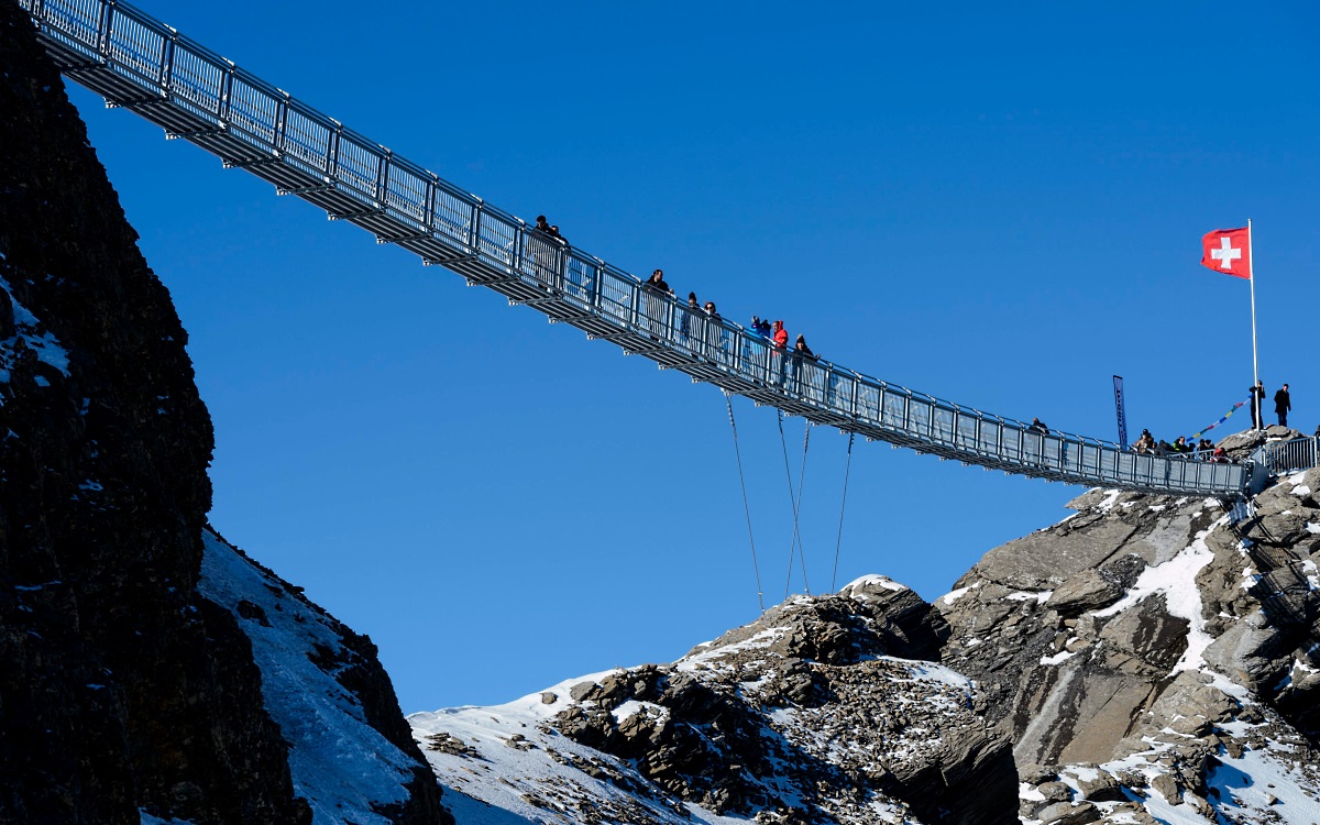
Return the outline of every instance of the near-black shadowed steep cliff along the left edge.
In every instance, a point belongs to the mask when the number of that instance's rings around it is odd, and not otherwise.
[[[0,821],[310,822],[249,638],[198,591],[186,334],[12,0],[0,67]],[[409,744],[379,665],[350,672]],[[442,821],[417,787],[391,816]]]

